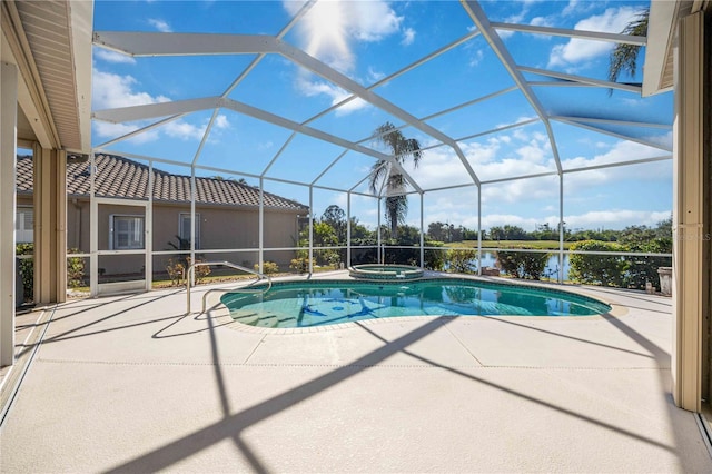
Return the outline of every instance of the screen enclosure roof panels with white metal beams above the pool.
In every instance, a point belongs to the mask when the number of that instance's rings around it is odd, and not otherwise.
[[[649,2],[168,2],[164,24],[156,3],[96,3],[96,154],[376,196],[378,165],[427,192],[671,158],[672,93],[643,97],[644,53],[609,81],[615,45],[645,50],[621,31]]]

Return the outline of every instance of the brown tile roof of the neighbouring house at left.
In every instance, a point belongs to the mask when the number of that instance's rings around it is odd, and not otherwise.
[[[147,199],[148,166],[113,156],[98,155],[96,195],[101,197]],[[32,191],[32,157],[18,157],[17,189]],[[67,164],[67,194],[89,196],[89,164]],[[196,177],[196,204],[259,206],[259,188],[238,181]],[[265,207],[308,210],[308,206],[264,192]],[[154,168],[154,201],[189,203],[190,177]]]

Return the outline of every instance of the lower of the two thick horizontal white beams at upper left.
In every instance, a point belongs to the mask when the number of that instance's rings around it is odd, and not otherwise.
[[[145,103],[141,106],[97,110],[92,113],[92,117],[97,120],[123,124],[134,120],[146,120],[214,109],[219,107],[220,100],[219,97],[204,97],[200,99],[176,100],[172,102]]]

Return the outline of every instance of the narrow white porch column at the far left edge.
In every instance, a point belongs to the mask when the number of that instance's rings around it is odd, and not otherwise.
[[[0,63],[0,366],[14,363],[18,68]]]

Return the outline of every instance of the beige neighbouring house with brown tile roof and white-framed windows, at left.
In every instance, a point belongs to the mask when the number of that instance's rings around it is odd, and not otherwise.
[[[99,155],[95,162],[98,250],[105,253],[99,257],[101,282],[141,277],[146,269],[146,251],[154,253],[150,266],[155,278],[166,273],[169,259],[180,255],[176,248],[184,249],[182,257],[189,256],[189,176],[150,169],[147,165],[112,155]],[[32,241],[32,157],[18,158],[18,243]],[[149,181],[152,181],[150,200]],[[90,162],[69,162],[67,247],[70,254],[91,251],[90,190]],[[228,260],[248,267],[258,263],[259,199],[259,188],[247,184],[196,177],[196,259]],[[308,215],[309,208],[269,192],[264,192],[263,199],[263,247],[267,250],[264,258],[287,269],[294,250],[284,248],[297,245],[299,218]],[[112,255],[117,251],[121,254]]]

